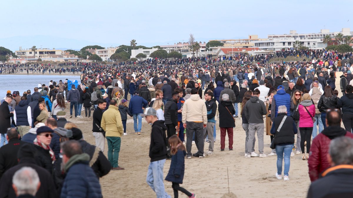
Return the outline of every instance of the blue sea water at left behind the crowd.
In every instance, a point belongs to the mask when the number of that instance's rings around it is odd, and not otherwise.
[[[10,90],[11,94],[13,91],[19,91],[20,95],[23,95],[24,91],[31,90],[31,93],[34,92],[34,88],[38,86],[39,83],[49,85],[50,80],[55,81],[56,84],[59,84],[59,80],[62,82],[65,79],[69,79],[72,82],[77,80],[80,82],[80,76],[70,76],[70,75],[10,75],[2,74],[0,75],[0,99],[6,96],[6,91]]]

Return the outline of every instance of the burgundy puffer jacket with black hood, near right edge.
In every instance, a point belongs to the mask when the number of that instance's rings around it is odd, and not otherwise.
[[[328,126],[312,140],[308,160],[311,182],[317,180],[320,173],[331,167],[331,164],[327,160],[330,142],[332,139],[340,136],[353,138],[352,133],[346,132],[340,126]]]

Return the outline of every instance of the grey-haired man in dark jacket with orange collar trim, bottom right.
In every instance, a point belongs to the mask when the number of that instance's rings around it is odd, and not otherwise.
[[[307,198],[353,197],[353,139],[337,137],[331,140],[329,162],[322,178],[311,183]]]

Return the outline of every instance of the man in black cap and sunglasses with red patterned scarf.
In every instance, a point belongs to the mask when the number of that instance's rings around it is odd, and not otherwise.
[[[54,151],[49,146],[52,141],[53,132],[51,128],[41,126],[37,129],[37,138],[33,141],[37,150],[35,160],[38,165],[47,169],[49,173],[52,173],[53,162],[55,161]]]

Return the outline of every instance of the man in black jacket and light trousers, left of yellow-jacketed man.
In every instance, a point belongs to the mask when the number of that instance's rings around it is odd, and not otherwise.
[[[93,112],[93,136],[96,138],[96,146],[104,152],[105,132],[101,127],[103,110],[107,107],[107,102],[104,99],[97,100],[98,108]]]

